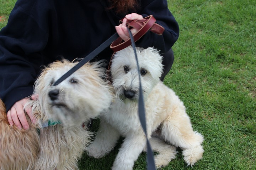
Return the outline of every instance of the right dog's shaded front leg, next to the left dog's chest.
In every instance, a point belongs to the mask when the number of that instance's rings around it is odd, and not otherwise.
[[[114,148],[119,137],[119,132],[101,119],[95,140],[89,146],[88,155],[95,158],[103,157]]]

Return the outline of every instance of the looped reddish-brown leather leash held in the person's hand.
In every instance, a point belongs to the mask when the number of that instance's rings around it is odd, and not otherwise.
[[[122,22],[123,22],[123,19],[120,20],[120,23]],[[153,17],[153,15],[150,15],[143,19],[137,19],[133,21],[127,20],[127,28],[138,29],[138,32],[133,35],[134,42],[139,40],[149,30],[158,35],[162,35],[162,33],[164,32],[164,27],[160,26],[159,24],[156,24],[155,22],[156,22],[156,19]],[[123,41],[120,37],[118,37],[116,40],[112,42],[112,44],[110,45],[110,48],[114,52],[117,52],[128,47],[131,44],[132,42],[130,38],[126,41]]]

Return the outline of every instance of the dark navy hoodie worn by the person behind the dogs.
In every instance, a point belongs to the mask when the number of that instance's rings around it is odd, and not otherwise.
[[[146,33],[136,45],[168,51],[179,28],[166,0],[138,0],[139,9],[117,15],[108,0],[18,0],[6,27],[0,31],[0,98],[7,111],[33,92],[41,66],[62,58],[85,57],[110,38],[119,19],[136,12],[153,15],[163,35]],[[105,5],[104,5],[105,4]],[[98,55],[109,60],[111,49]]]

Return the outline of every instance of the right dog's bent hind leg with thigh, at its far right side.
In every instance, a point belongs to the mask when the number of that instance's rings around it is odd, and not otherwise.
[[[161,135],[164,140],[183,149],[183,159],[188,165],[193,165],[203,156],[203,136],[193,131],[190,118],[182,103],[177,106],[172,115],[161,125]]]

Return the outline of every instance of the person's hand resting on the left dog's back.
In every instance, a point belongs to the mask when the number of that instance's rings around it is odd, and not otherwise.
[[[36,98],[37,98],[36,96],[31,97],[32,100],[36,100]],[[19,128],[19,129],[21,129],[22,127],[25,130],[29,129],[26,115],[25,115],[25,112],[23,109],[23,107],[28,102],[28,100],[29,100],[29,98],[27,97],[27,98],[23,98],[23,99],[17,101],[11,107],[11,109],[7,112],[7,119],[11,126],[13,126],[15,124],[17,126],[17,128]],[[32,123],[34,123],[35,119],[33,117],[32,107],[27,107],[26,112],[27,112],[28,116],[30,117],[30,119],[32,120]]]

